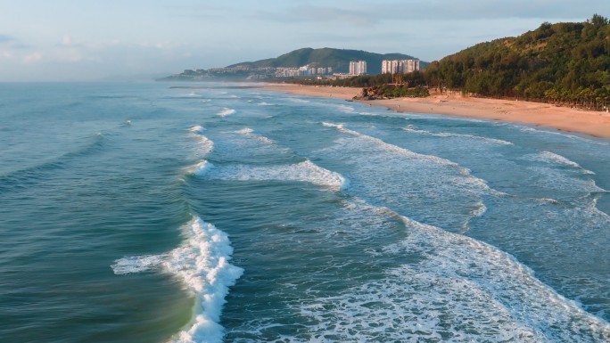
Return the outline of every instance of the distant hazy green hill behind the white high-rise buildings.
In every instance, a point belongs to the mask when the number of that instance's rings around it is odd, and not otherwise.
[[[227,66],[227,68],[238,66],[248,66],[251,68],[297,68],[313,63],[319,67],[332,67],[335,72],[347,72],[350,67],[350,61],[367,61],[368,74],[379,74],[381,73],[381,62],[383,60],[410,59],[415,59],[415,57],[402,53],[367,53],[361,50],[342,50],[327,47],[322,49],[303,48],[290,53],[284,53],[277,58],[242,62]]]

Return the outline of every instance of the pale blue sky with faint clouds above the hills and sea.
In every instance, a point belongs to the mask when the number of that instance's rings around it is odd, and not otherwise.
[[[152,78],[302,47],[440,60],[608,0],[0,0],[0,82]]]

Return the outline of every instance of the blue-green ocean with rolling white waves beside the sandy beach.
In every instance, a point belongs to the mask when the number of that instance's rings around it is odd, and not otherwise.
[[[3,342],[610,341],[607,139],[24,83],[0,160]]]

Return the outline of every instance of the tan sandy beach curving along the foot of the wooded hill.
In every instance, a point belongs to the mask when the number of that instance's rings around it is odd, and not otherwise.
[[[351,100],[361,88],[268,84],[268,91]],[[432,94],[427,98],[359,101],[372,106],[411,113],[502,120],[596,137],[610,138],[610,113],[523,102],[465,97],[462,94]]]

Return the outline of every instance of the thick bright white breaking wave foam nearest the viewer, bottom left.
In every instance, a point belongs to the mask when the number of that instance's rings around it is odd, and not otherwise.
[[[170,342],[221,342],[225,332],[219,324],[222,306],[243,269],[229,263],[233,248],[227,233],[198,216],[182,229],[185,241],[177,249],[156,256],[120,258],[111,268],[119,275],[151,270],[175,275],[193,292],[196,305],[190,327]]]

